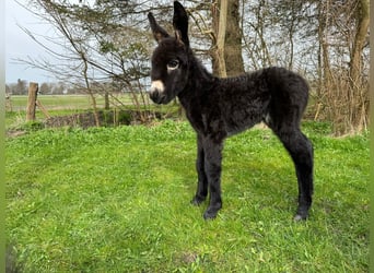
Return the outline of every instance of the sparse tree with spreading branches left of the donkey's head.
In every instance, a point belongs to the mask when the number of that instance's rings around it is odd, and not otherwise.
[[[55,43],[65,48],[63,55],[51,51],[36,39],[35,35],[25,29],[40,46],[59,59],[59,64],[38,60],[31,60],[30,64],[51,71],[59,79],[75,84],[78,88],[84,86],[91,97],[97,126],[100,119],[96,95],[106,98],[108,96],[106,90],[92,87],[96,81],[116,83],[112,86],[120,86],[124,92],[129,91],[132,94],[139,111],[148,109],[149,103],[144,97],[142,80],[149,74],[150,35],[144,35],[144,29],[135,26],[144,21],[145,16],[139,17],[139,14],[144,12],[138,10],[140,5],[135,1],[80,2],[80,4],[65,0],[30,2],[36,15],[55,26],[60,35],[60,40]],[[138,16],[136,17],[135,14]],[[113,99],[116,106],[126,107],[116,97]],[[145,114],[140,116],[149,117]]]

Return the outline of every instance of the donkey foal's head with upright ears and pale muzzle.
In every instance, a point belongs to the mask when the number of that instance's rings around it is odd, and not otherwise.
[[[188,80],[188,16],[183,5],[175,1],[175,36],[162,28],[152,13],[148,14],[148,19],[159,44],[152,56],[150,97],[156,104],[167,104],[184,90]]]

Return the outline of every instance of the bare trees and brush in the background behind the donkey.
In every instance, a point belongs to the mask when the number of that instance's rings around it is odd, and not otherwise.
[[[332,122],[336,134],[367,128],[369,0],[229,0],[225,20],[220,16],[221,0],[183,3],[190,15],[192,48],[214,74],[287,67],[308,80],[315,120]],[[61,88],[84,92],[96,112],[96,94],[108,99],[120,92],[133,96],[139,115],[150,109],[144,92],[154,41],[147,13],[155,13],[173,33],[171,1],[36,0],[24,7],[54,26],[59,37],[51,40],[24,28],[46,52],[58,57],[21,60],[61,80],[55,86],[40,83],[43,94]],[[222,28],[226,33],[220,40]],[[62,54],[50,51],[48,43],[59,45]],[[219,64],[222,59],[224,67]],[[19,94],[22,83],[8,86],[9,92]]]

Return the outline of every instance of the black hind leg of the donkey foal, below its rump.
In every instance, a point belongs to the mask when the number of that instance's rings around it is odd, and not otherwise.
[[[306,219],[313,194],[313,145],[300,128],[283,124],[276,134],[283,143],[295,165],[299,183],[299,206],[295,221]]]

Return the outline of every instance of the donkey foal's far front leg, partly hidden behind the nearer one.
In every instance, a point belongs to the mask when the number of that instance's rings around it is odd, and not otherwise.
[[[191,203],[199,205],[207,199],[208,195],[208,178],[204,169],[204,152],[202,136],[197,135],[197,159],[196,159],[196,170],[198,173],[198,185],[196,194],[191,200]]]

